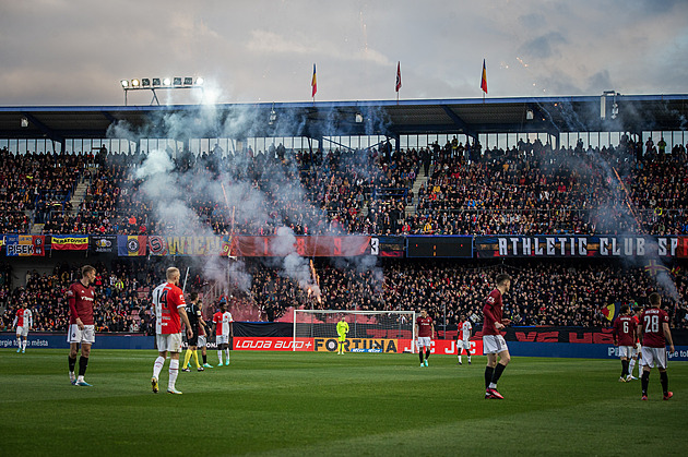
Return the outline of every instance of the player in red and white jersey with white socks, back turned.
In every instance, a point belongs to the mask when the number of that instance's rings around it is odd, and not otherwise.
[[[165,365],[167,352],[169,352],[169,381],[167,392],[169,394],[181,394],[175,384],[179,374],[179,353],[181,352],[181,322],[187,326],[187,338],[193,337],[191,323],[187,316],[183,292],[178,287],[179,268],[174,266],[167,268],[167,282],[162,284],[153,290],[153,305],[155,306],[155,340],[157,342],[158,357],[153,365],[153,377],[151,385],[153,393],[159,390],[157,378]]]

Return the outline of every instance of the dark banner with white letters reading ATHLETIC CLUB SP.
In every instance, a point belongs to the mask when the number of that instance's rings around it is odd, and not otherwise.
[[[537,234],[475,237],[475,256],[688,257],[688,237]]]

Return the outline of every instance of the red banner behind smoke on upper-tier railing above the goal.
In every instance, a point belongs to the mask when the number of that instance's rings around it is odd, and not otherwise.
[[[285,237],[225,237],[223,255],[239,257],[283,257],[292,252],[303,257],[354,257],[370,254],[368,236],[294,237],[293,245],[284,245]],[[229,249],[226,245],[229,244]]]

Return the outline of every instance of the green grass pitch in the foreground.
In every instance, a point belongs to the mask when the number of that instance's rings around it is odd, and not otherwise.
[[[0,349],[0,455],[684,454],[688,364],[675,397],[618,383],[612,360],[514,358],[485,400],[484,357],[234,351],[232,365],[150,390],[154,351],[94,350],[86,380],[67,351]],[[209,352],[216,362],[216,352]],[[167,364],[161,388],[167,385]]]

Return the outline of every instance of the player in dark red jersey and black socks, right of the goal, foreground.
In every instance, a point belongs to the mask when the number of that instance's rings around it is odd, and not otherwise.
[[[503,373],[507,364],[511,361],[507,341],[500,332],[505,325],[511,321],[501,317],[501,297],[511,288],[511,276],[499,274],[496,278],[497,287],[489,292],[485,306],[483,308],[483,351],[487,354],[487,366],[485,368],[485,398],[503,399],[497,392],[497,382]],[[499,363],[497,363],[499,357]]]

